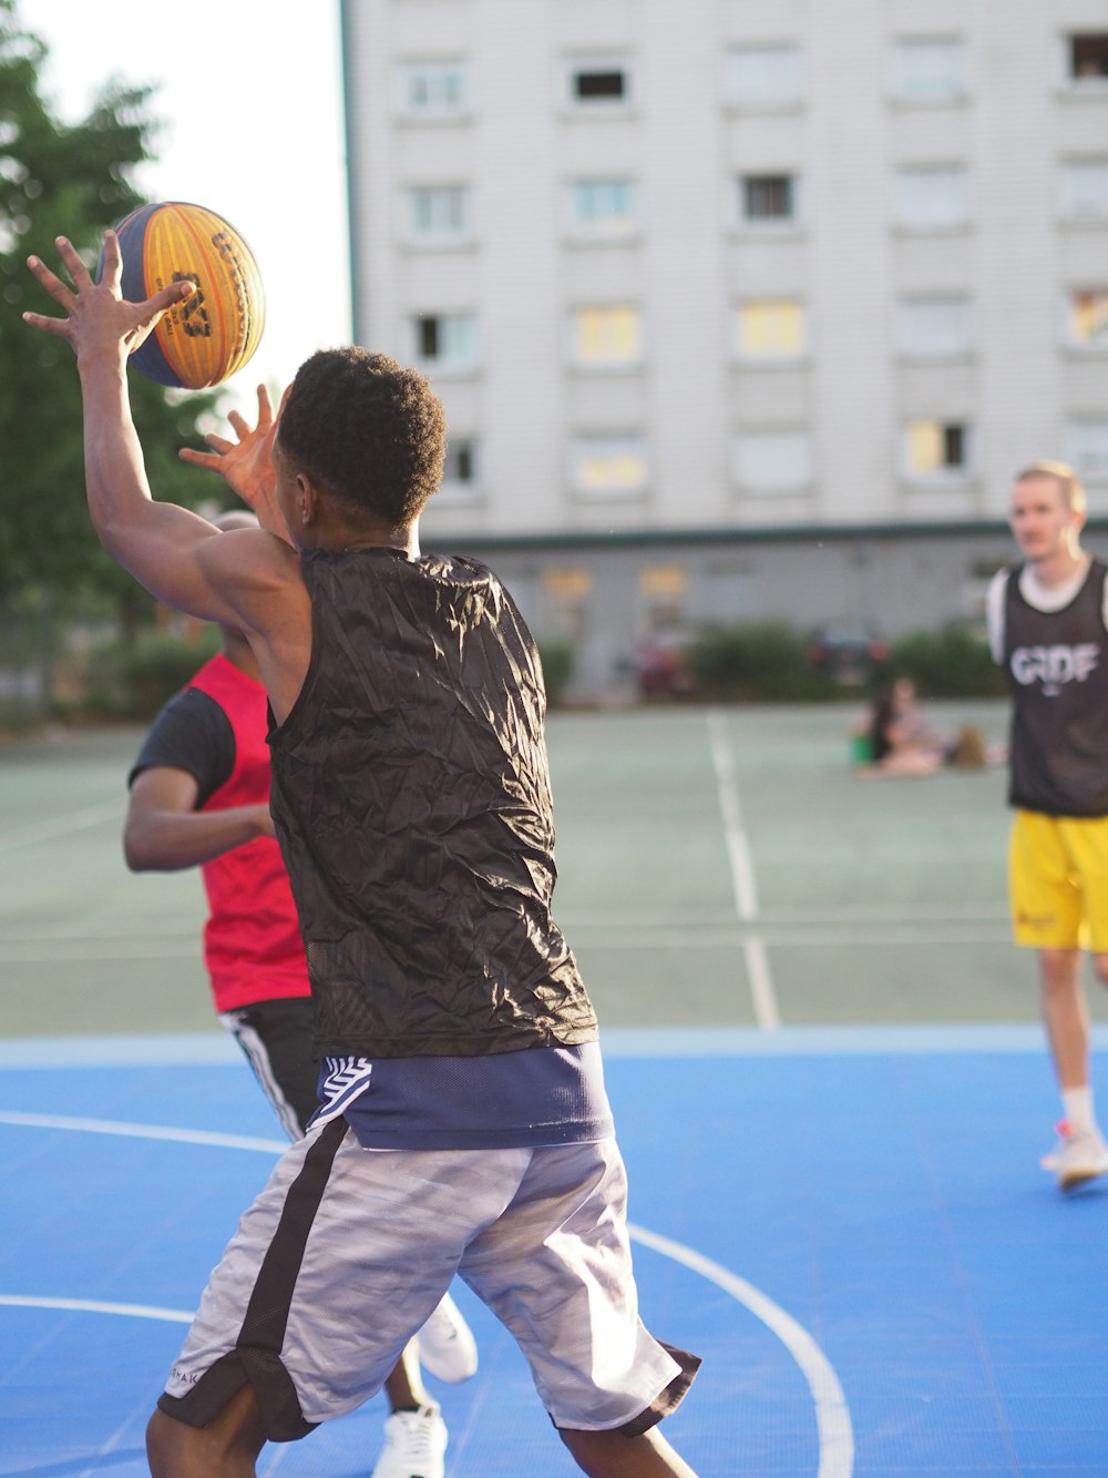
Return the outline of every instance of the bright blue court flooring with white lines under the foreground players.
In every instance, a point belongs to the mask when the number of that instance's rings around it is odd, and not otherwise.
[[[1036,1027],[610,1032],[647,1324],[702,1478],[1108,1474],[1108,1184],[1037,1166]],[[1104,1041],[1098,1046],[1104,1046]],[[0,1472],[145,1474],[189,1311],[279,1148],[214,1033],[0,1046]],[[436,1386],[451,1478],[576,1471],[511,1339]],[[381,1398],[259,1471],[359,1478]]]

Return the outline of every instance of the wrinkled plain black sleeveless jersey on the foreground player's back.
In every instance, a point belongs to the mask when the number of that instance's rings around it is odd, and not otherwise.
[[[550,915],[545,696],[511,597],[464,559],[383,547],[301,559],[312,658],[269,742],[316,1052],[594,1041]]]

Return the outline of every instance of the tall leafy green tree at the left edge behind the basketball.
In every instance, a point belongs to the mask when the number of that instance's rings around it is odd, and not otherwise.
[[[27,269],[65,234],[95,265],[103,231],[142,204],[134,170],[151,158],[157,120],[149,87],[108,80],[78,123],[53,117],[40,83],[44,43],[0,0],[0,609],[41,593],[100,590],[134,606],[133,582],[100,553],[84,508],[80,393],[66,349],[22,322],[49,312]],[[59,364],[61,362],[61,364]],[[160,497],[211,497],[177,460],[202,445],[198,418],[213,395],[174,396],[131,375],[134,420]]]

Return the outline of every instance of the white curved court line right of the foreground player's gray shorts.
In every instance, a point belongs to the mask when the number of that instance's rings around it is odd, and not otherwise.
[[[854,1472],[854,1431],[849,1407],[839,1377],[808,1330],[798,1324],[792,1314],[786,1314],[771,1298],[756,1289],[753,1283],[748,1283],[746,1278],[740,1278],[718,1262],[712,1262],[711,1258],[631,1222],[628,1222],[628,1231],[644,1247],[653,1247],[654,1252],[672,1258],[674,1262],[684,1264],[693,1273],[699,1273],[700,1277],[730,1293],[780,1339],[801,1367],[815,1403],[815,1422],[820,1429],[818,1478],[849,1478]]]

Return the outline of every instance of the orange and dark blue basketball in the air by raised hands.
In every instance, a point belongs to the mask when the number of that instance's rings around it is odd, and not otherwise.
[[[202,205],[164,201],[131,211],[115,234],[127,302],[142,303],[170,282],[196,284],[134,350],[134,368],[188,390],[241,370],[259,346],[266,307],[254,253],[230,222]]]

